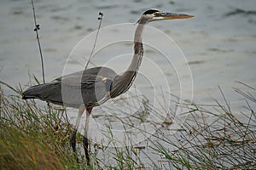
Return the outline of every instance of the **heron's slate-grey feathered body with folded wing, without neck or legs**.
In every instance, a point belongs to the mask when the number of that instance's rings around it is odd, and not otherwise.
[[[91,108],[99,105],[99,101],[109,99],[111,84],[116,76],[112,69],[94,67],[28,88],[23,93],[23,99],[42,99],[56,105]]]

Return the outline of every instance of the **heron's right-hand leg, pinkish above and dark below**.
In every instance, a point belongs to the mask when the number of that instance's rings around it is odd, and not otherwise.
[[[88,130],[89,130],[89,119],[90,119],[91,110],[92,108],[86,109],[86,122],[85,122],[84,139],[83,139],[84,151],[85,151],[85,156],[88,164],[90,164]]]

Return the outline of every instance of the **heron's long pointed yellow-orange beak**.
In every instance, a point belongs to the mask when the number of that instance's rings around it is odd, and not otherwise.
[[[155,14],[153,20],[174,20],[174,19],[189,19],[194,17],[194,15],[189,14],[173,14],[173,13],[165,13],[160,12]]]

